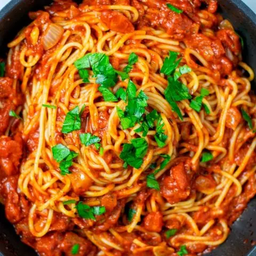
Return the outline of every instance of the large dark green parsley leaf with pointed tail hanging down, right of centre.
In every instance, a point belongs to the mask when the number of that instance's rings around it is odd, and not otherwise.
[[[188,87],[185,84],[180,83],[178,80],[175,81],[173,77],[169,76],[168,86],[164,91],[165,99],[169,102],[172,110],[178,114],[179,118],[183,120],[181,111],[177,105],[177,101],[191,99]]]

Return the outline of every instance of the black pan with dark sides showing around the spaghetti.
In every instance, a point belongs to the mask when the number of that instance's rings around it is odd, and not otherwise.
[[[0,0],[1,1],[1,0]],[[256,1],[256,0],[255,0]],[[6,44],[28,24],[28,12],[42,9],[51,0],[12,0],[0,12],[0,56],[6,55]],[[256,70],[256,15],[241,0],[219,0],[220,12],[244,38],[243,58]],[[252,83],[256,91],[256,79]],[[1,121],[0,121],[1,122]],[[225,243],[207,256],[256,256],[256,198],[232,226]],[[0,206],[0,256],[34,256],[36,253],[15,235]]]

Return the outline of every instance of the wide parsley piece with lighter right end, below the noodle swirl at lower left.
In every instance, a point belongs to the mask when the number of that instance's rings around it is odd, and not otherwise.
[[[96,220],[94,215],[101,215],[106,212],[105,206],[90,207],[83,202],[78,202],[78,204],[76,205],[76,209],[79,217],[91,220]]]

